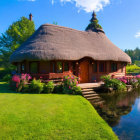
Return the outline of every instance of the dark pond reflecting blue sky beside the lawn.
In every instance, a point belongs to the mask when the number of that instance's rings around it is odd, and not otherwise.
[[[94,104],[100,116],[120,140],[140,140],[140,89],[131,93],[100,94],[104,101]]]

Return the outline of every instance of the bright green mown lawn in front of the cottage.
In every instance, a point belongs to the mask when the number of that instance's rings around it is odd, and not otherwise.
[[[1,140],[118,139],[81,96],[10,92],[1,82]]]

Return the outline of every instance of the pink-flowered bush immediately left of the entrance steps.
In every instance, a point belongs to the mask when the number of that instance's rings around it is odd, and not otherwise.
[[[78,87],[78,77],[65,76],[63,80],[63,93],[81,94],[81,88]]]

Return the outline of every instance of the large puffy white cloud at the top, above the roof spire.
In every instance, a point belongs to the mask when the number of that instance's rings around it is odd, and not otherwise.
[[[76,7],[82,9],[86,12],[92,12],[93,10],[98,12],[103,9],[103,7],[110,4],[110,0],[59,0],[60,2],[74,2]],[[54,0],[52,0],[54,3]]]

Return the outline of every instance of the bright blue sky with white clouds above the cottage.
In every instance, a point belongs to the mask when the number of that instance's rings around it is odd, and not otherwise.
[[[140,47],[140,0],[0,0],[0,33],[29,13],[36,29],[55,21],[85,30],[93,10],[108,38],[119,48]]]

